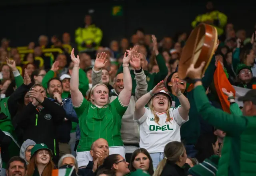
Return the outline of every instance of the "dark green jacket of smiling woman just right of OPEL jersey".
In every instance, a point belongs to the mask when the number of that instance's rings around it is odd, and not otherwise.
[[[214,64],[214,58],[215,57],[213,56],[208,68],[206,69],[204,77],[202,78],[203,86],[205,89],[208,88],[208,86],[211,84],[213,80],[216,68]],[[188,98],[188,101],[190,103],[190,110],[188,113],[189,120],[188,122],[184,123],[180,128],[181,140],[182,142],[184,142],[185,145],[196,144],[200,136],[200,113],[198,113],[196,110],[193,92],[194,90],[191,90],[190,92],[184,92],[184,95]],[[176,96],[172,96],[172,100],[175,101],[175,107],[178,107],[180,105],[180,101]]]

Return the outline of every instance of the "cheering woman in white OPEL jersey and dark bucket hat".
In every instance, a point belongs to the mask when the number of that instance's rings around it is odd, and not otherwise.
[[[172,86],[180,100],[178,108],[171,107],[172,98],[163,90],[161,81],[137,100],[133,114],[140,128],[140,147],[148,150],[154,168],[164,158],[164,146],[170,141],[180,141],[180,126],[188,121],[188,99],[181,93],[178,82],[172,80]]]

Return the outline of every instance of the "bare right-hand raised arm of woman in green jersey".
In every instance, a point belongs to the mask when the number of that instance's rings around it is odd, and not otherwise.
[[[126,56],[128,55],[128,56]],[[132,95],[132,77],[129,69],[130,59],[138,57],[138,53],[136,55],[124,53],[123,58],[123,69],[124,69],[124,89],[119,94],[119,100],[123,106],[128,106],[130,103],[131,95]]]

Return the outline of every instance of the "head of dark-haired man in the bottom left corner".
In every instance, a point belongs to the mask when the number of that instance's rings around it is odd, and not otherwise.
[[[25,160],[20,158],[19,156],[14,156],[10,158],[9,162],[7,163],[7,176],[26,176],[27,175],[27,164]]]

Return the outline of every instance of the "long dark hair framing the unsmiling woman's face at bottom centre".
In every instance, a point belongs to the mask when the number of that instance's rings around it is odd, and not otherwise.
[[[140,153],[143,153],[143,154],[145,154],[145,155],[148,157],[148,159],[149,159],[150,162],[149,162],[149,168],[148,168],[147,171],[148,171],[148,173],[149,173],[150,175],[153,175],[153,174],[154,174],[153,161],[152,161],[152,158],[150,157],[150,154],[148,153],[148,151],[147,151],[145,148],[138,148],[137,150],[135,150],[135,151],[132,153],[131,161],[130,161],[130,165],[129,165],[130,171],[131,171],[131,172],[136,171],[136,169],[135,169],[134,166],[133,166],[133,162],[134,162],[136,156],[137,156],[138,154],[140,154]]]

